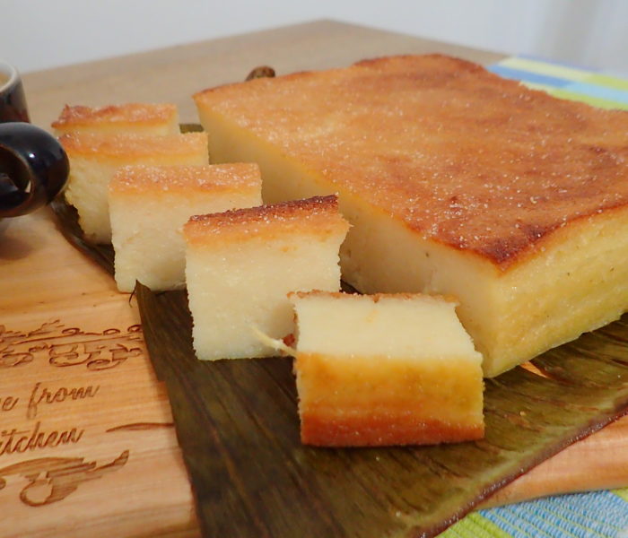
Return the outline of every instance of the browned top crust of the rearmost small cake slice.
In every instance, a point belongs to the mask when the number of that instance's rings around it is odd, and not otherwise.
[[[157,125],[175,120],[177,116],[177,107],[170,103],[126,103],[99,108],[65,105],[52,127],[65,131],[109,123]]]

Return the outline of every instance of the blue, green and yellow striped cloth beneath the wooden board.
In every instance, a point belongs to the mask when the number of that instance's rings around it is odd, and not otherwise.
[[[489,70],[555,97],[628,110],[628,80],[531,57]],[[479,510],[439,538],[628,538],[628,488],[574,493]]]

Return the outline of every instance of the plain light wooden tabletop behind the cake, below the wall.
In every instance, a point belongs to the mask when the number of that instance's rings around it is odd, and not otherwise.
[[[242,80],[252,67],[271,65],[277,74],[341,67],[391,54],[441,52],[480,64],[503,55],[418,39],[388,31],[330,22],[212,39],[144,54],[70,65],[23,76],[31,120],[49,126],[64,103],[174,102],[183,122],[197,121],[190,96]]]

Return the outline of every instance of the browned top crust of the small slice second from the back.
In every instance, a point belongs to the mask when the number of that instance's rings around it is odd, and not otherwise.
[[[96,156],[112,161],[150,155],[186,156],[207,153],[206,133],[137,135],[69,133],[59,142],[70,155]]]

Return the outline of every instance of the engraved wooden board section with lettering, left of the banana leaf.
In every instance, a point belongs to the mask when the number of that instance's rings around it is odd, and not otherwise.
[[[133,301],[49,210],[0,227],[0,536],[196,535]]]

